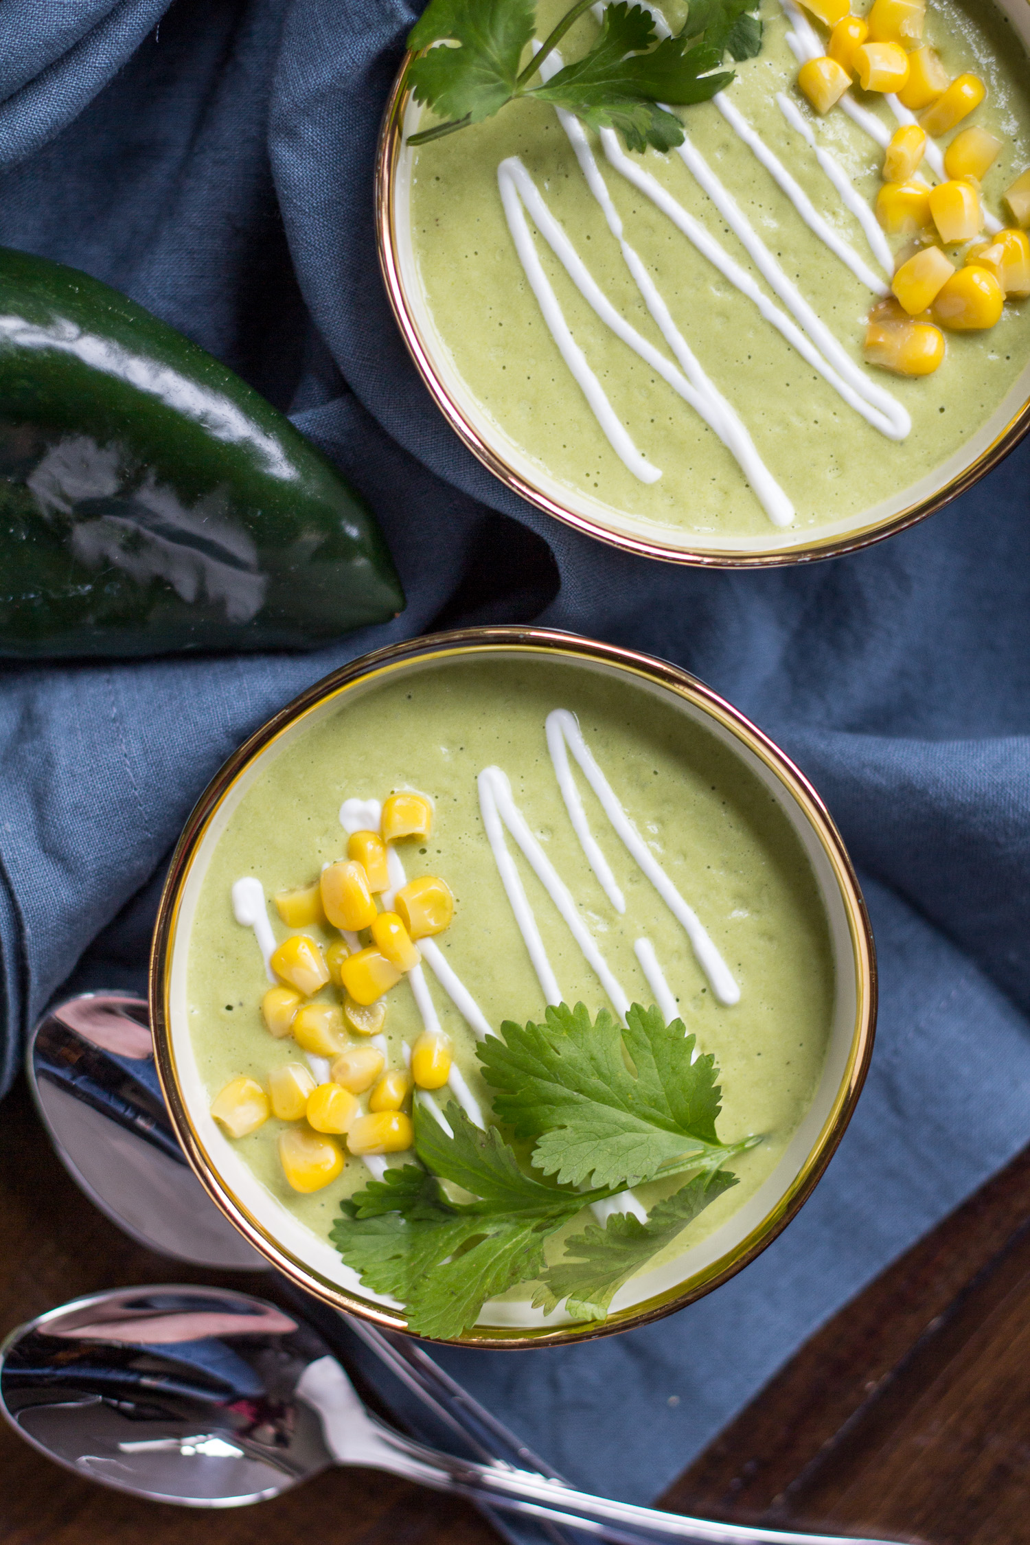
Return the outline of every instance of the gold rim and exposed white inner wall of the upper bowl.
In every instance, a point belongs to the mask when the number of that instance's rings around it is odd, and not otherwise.
[[[996,0],[1030,51],[1030,6]],[[412,151],[406,136],[420,127],[408,87],[408,54],[394,82],[380,131],[375,215],[386,294],[401,337],[437,408],[469,451],[519,497],[554,519],[625,552],[666,562],[752,569],[834,558],[883,541],[934,514],[996,467],[1030,430],[1030,358],[988,420],[937,468],[879,504],[840,521],[794,530],[769,525],[758,536],[655,531],[655,524],[613,510],[585,490],[551,476],[479,402],[440,335],[418,280],[411,230]],[[571,388],[578,392],[578,388]],[[556,408],[559,411],[559,408]]]

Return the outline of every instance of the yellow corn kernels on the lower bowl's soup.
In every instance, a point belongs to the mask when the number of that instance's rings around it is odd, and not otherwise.
[[[335,1180],[344,1165],[343,1142],[360,1156],[411,1148],[414,1131],[405,1106],[412,1083],[440,1089],[451,1074],[445,1035],[422,1034],[411,1048],[409,1071],[386,1068],[378,1046],[352,1040],[378,1035],[386,1020],[385,993],[422,959],[415,939],[442,933],[454,916],[449,887],[432,874],[403,885],[389,912],[377,905],[375,898],[391,888],[386,845],[428,837],[431,825],[428,799],[391,794],[378,831],[352,833],[346,859],[329,864],[313,884],[275,898],[289,929],[329,925],[368,938],[352,950],[341,936],[323,952],[310,935],[292,933],[269,961],[280,981],[261,1001],[269,1034],[292,1037],[301,1051],[330,1058],[329,1080],[317,1085],[306,1063],[289,1061],[269,1074],[267,1091],[256,1078],[239,1077],[212,1105],[212,1115],[230,1137],[246,1137],[269,1115],[296,1123],[278,1137],[283,1173],[295,1191],[320,1191]],[[315,998],[330,984],[340,1001]]]

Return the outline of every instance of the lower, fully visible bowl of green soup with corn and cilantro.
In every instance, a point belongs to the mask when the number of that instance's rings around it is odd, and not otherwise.
[[[539,629],[368,655],[230,757],[151,958],[201,1180],[340,1309],[476,1346],[629,1329],[809,1196],[872,1049],[822,800],[672,664]]]

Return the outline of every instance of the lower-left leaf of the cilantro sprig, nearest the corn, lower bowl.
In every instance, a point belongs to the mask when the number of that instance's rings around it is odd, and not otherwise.
[[[452,1136],[415,1105],[415,1165],[388,1170],[341,1202],[330,1238],[375,1293],[408,1306],[415,1335],[446,1340],[476,1324],[488,1298],[537,1278],[544,1245],[590,1199],[525,1174],[496,1128],[483,1132],[460,1106]],[[449,1202],[440,1179],[476,1196]]]

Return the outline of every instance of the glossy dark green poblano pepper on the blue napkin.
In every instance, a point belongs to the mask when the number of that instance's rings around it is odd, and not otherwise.
[[[306,649],[403,604],[289,419],[117,290],[0,249],[0,657]]]

